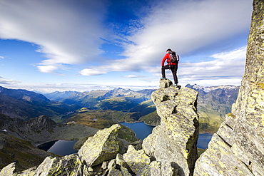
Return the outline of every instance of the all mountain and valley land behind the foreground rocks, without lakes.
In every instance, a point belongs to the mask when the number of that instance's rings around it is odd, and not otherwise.
[[[238,87],[188,87],[199,92],[200,133],[215,133],[225,120],[225,114],[230,113]],[[0,152],[4,157],[0,160],[0,167],[14,160],[20,161],[19,170],[38,165],[46,156],[54,154],[36,146],[54,140],[78,140],[74,146],[78,150],[88,136],[116,123],[144,122],[157,126],[161,119],[151,100],[153,91],[116,88],[42,95],[0,87],[0,135],[3,144]],[[124,145],[138,140],[129,128],[123,127],[121,131],[118,138],[126,141]],[[14,147],[16,140],[19,147]],[[21,155],[21,151],[27,154]],[[29,164],[26,161],[31,157],[34,160]]]

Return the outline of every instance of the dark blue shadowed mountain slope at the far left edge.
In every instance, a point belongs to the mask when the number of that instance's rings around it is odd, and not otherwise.
[[[39,115],[54,117],[79,108],[78,105],[49,100],[40,93],[0,86],[0,113],[11,118],[28,120]]]

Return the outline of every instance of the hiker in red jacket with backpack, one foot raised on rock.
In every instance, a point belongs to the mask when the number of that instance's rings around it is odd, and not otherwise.
[[[162,74],[161,79],[166,79],[165,70],[170,69],[171,73],[173,73],[173,79],[174,79],[175,86],[178,86],[178,78],[177,78],[178,61],[171,62],[170,55],[174,52],[171,50],[171,48],[168,48],[166,52],[167,52],[166,55],[163,57],[161,61],[161,74]],[[167,60],[167,63],[168,63],[168,65],[166,66],[164,66],[165,60]]]

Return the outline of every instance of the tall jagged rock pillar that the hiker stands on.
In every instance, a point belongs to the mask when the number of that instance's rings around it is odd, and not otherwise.
[[[161,125],[143,140],[143,150],[161,163],[171,163],[178,175],[192,175],[198,158],[198,92],[169,85],[169,80],[161,80],[161,88],[152,93]]]

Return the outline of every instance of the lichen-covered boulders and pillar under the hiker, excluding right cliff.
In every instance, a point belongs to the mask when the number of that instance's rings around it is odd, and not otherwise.
[[[98,130],[77,154],[46,157],[39,166],[21,172],[13,162],[0,175],[192,175],[198,157],[198,92],[177,88],[170,80],[160,84],[152,99],[161,125],[143,140],[143,145],[124,145],[118,138],[121,125],[116,124]]]

